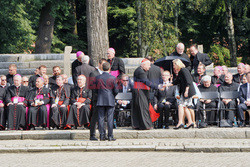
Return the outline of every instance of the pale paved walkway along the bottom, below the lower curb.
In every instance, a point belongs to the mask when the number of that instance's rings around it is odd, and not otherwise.
[[[250,153],[54,152],[0,154],[1,166],[221,167],[250,166]]]

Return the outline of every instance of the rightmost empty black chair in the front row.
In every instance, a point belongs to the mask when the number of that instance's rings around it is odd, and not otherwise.
[[[238,102],[237,102],[238,97],[239,97],[239,92],[238,91],[223,91],[223,92],[220,92],[220,118],[219,118],[220,120],[225,119],[225,118],[222,118],[222,114],[225,115],[226,111],[234,111],[236,113],[237,105],[238,105]],[[235,100],[236,107],[235,108],[226,108],[226,107],[222,108],[221,107],[221,104],[223,103],[222,99],[233,99],[233,100]]]

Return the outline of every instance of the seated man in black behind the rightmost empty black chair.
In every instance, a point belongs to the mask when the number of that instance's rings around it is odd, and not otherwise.
[[[218,89],[219,89],[219,92],[224,92],[224,91],[238,91],[238,88],[239,88],[239,84],[233,82],[233,75],[232,75],[232,73],[228,72],[225,75],[224,83]],[[222,101],[222,103],[221,103],[222,109],[236,108],[237,107],[237,102],[235,99],[222,99],[221,101]],[[225,113],[221,112],[221,118],[228,119],[231,122],[234,121],[234,116],[235,116],[235,113],[232,110],[226,111]]]

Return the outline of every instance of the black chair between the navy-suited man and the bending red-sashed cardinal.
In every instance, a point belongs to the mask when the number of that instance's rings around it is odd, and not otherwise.
[[[116,95],[115,99],[116,100],[130,101],[130,107],[129,108],[123,109],[118,104],[116,105],[116,109],[117,109],[117,112],[118,112],[116,124],[118,126],[130,126],[130,124],[131,124],[131,110],[132,110],[132,92],[118,93]]]

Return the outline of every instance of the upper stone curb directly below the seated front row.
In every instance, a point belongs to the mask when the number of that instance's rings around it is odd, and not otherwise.
[[[96,136],[99,134],[97,132]],[[164,130],[154,129],[138,131],[130,129],[115,129],[116,139],[161,139],[161,138],[194,138],[194,139],[250,139],[249,128],[207,128]],[[0,140],[88,140],[89,130],[36,130],[36,131],[1,131]]]

